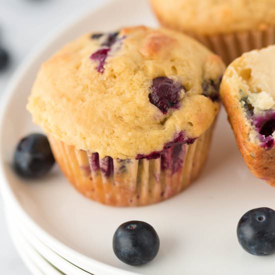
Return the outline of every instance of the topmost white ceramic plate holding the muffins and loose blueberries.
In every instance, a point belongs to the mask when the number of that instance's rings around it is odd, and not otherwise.
[[[275,208],[275,188],[256,179],[244,165],[222,111],[212,149],[198,180],[181,194],[151,206],[114,208],[78,194],[57,168],[47,178],[24,181],[10,162],[18,139],[37,130],[25,111],[39,64],[80,33],[121,25],[156,25],[146,0],[115,0],[85,12],[48,39],[14,76],[2,107],[0,169],[3,194],[25,225],[42,242],[75,265],[99,274],[264,274],[273,275],[275,257],[244,252],[236,224],[250,208]],[[120,262],[112,252],[112,235],[127,220],[154,226],[160,237],[157,257],[144,266]]]

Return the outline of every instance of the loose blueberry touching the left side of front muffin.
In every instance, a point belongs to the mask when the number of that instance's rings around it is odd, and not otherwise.
[[[27,178],[45,175],[54,164],[47,137],[32,133],[22,138],[16,146],[13,156],[15,172]]]

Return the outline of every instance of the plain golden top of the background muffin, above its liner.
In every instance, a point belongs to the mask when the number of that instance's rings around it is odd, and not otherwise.
[[[275,24],[275,0],[150,0],[161,23],[196,34],[265,29]]]

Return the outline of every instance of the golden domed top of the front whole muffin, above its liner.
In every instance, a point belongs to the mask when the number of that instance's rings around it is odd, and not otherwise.
[[[195,40],[145,26],[84,35],[44,62],[27,109],[55,138],[100,157],[147,157],[213,122],[224,65]]]

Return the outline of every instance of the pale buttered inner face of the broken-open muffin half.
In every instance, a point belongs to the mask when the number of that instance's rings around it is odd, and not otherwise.
[[[252,50],[226,69],[221,96],[246,123],[250,142],[271,148],[275,137],[275,46]]]

